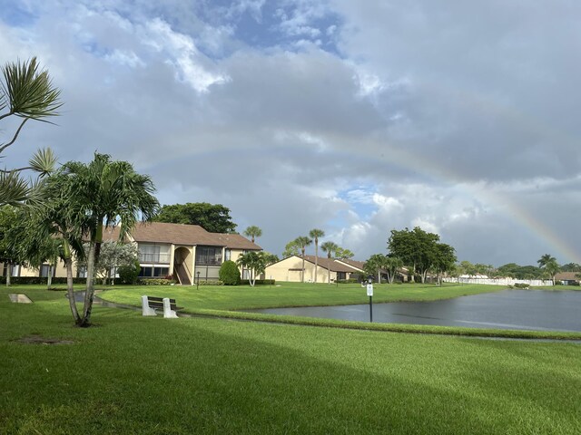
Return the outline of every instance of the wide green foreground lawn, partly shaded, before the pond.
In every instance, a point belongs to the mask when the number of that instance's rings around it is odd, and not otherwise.
[[[153,290],[163,291],[145,293]],[[8,293],[34,304],[12,304]],[[242,301],[224,298],[221,308]],[[94,323],[74,327],[63,292],[0,289],[0,433],[581,433],[575,343],[169,320],[100,306]],[[18,341],[32,336],[72,343]]]

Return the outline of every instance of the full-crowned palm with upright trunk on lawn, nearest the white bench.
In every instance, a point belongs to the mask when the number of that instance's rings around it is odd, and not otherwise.
[[[77,234],[89,238],[87,281],[84,310],[80,326],[91,324],[94,296],[94,271],[103,242],[103,227],[119,226],[121,241],[130,234],[138,221],[155,216],[159,203],[153,197],[153,182],[140,175],[126,161],[112,161],[106,154],[94,154],[89,164],[77,161],[65,163],[61,176],[62,194],[67,199],[68,220]]]

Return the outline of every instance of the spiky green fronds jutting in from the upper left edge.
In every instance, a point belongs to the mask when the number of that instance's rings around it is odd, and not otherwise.
[[[58,115],[62,106],[60,91],[53,86],[46,71],[40,71],[36,58],[30,61],[6,63],[2,68],[3,81],[0,82],[0,121],[15,116],[15,132],[9,140],[0,143],[0,159],[5,150],[18,139],[27,121],[45,121]],[[19,205],[25,199],[40,199],[36,186],[20,176],[21,171],[33,169],[46,175],[54,169],[56,159],[51,150],[39,150],[29,161],[29,166],[18,169],[0,170],[0,206]]]

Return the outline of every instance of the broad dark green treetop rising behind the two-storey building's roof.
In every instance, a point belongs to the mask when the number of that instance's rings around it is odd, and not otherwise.
[[[188,202],[163,206],[158,215],[153,218],[155,222],[199,225],[211,233],[230,234],[236,231],[236,224],[231,219],[230,208],[226,208],[222,204],[209,204],[207,202]]]

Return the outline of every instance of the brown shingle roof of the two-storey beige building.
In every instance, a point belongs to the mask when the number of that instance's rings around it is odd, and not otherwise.
[[[262,248],[240,234],[210,233],[199,225],[148,222],[137,224],[131,233],[136,242],[173,245],[228,247],[260,251]],[[119,228],[103,231],[103,239],[117,239]]]

